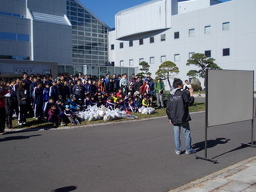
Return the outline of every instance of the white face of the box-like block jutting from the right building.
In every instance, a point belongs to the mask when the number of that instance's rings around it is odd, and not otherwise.
[[[171,2],[156,0],[116,14],[116,37],[171,27]]]

